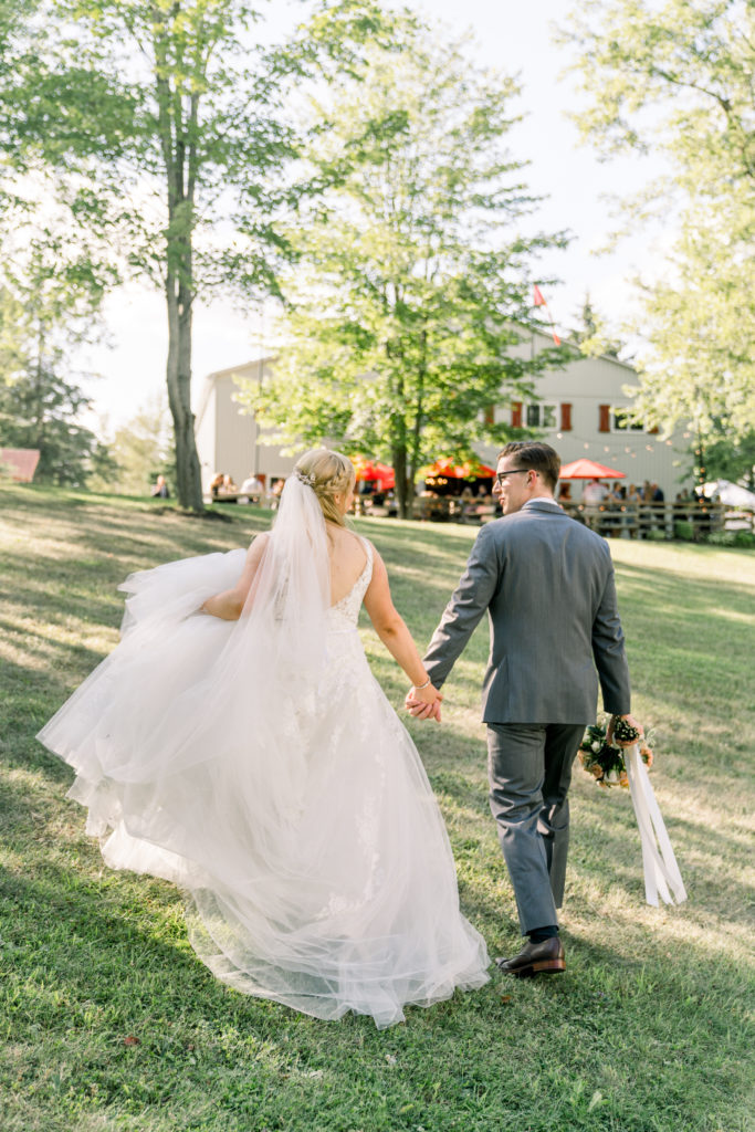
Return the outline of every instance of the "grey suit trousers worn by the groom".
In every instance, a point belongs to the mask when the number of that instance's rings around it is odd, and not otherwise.
[[[583,723],[488,723],[490,809],[522,935],[558,924],[569,841],[568,788]]]

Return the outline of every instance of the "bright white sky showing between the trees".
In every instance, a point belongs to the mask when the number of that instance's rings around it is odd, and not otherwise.
[[[574,0],[576,2],[576,0]],[[640,189],[660,171],[657,160],[636,156],[600,162],[594,151],[580,143],[576,126],[565,111],[580,104],[576,79],[559,78],[572,60],[568,48],[557,46],[551,28],[565,19],[569,0],[539,0],[523,5],[512,0],[409,0],[426,16],[441,20],[452,33],[471,29],[471,53],[482,66],[518,74],[523,87],[513,108],[525,115],[509,135],[518,160],[531,161],[526,180],[532,192],[547,197],[538,212],[543,230],[567,229],[573,234],[566,251],[548,252],[540,261],[542,278],[558,277],[546,289],[556,324],[575,325],[585,292],[597,310],[620,323],[632,305],[632,280],[658,269],[659,252],[651,233],[638,233],[607,256],[593,251],[603,246],[616,225],[616,198]],[[268,34],[290,26],[302,5],[297,0],[272,0]],[[164,388],[168,349],[166,316],[162,297],[129,285],[114,292],[105,305],[109,348],[89,348],[80,368],[102,375],[86,381],[94,411],[112,429],[125,423]],[[223,298],[195,311],[192,403],[196,406],[203,378],[213,370],[240,365],[259,355],[266,317],[250,310],[243,316]]]

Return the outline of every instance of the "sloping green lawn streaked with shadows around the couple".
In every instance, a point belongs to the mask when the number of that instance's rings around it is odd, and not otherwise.
[[[687,886],[644,903],[626,792],[575,771],[568,970],[379,1032],[244,997],[196,960],[180,893],[109,872],[34,735],[114,646],[131,571],[246,544],[268,516],[0,487],[2,1132],[745,1132],[753,1123],[755,554],[615,541],[634,713]],[[474,532],[361,521],[420,646]],[[405,680],[363,626],[392,701]],[[462,906],[491,954],[518,943],[486,796],[482,625],[440,727],[410,721],[447,822]],[[565,663],[568,658],[564,658]],[[749,1092],[749,1096],[748,1096]]]

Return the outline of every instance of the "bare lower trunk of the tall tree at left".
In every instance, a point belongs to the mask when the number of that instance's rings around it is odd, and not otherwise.
[[[169,274],[168,401],[175,435],[175,491],[187,511],[201,512],[201,471],[191,412],[191,301],[187,288]]]

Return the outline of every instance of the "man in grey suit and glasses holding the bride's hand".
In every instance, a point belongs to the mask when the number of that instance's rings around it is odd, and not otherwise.
[[[424,657],[440,687],[488,611],[482,718],[490,808],[527,936],[517,955],[497,963],[520,978],[565,969],[556,909],[564,899],[567,792],[585,724],[595,719],[598,680],[606,711],[636,726],[608,543],[554,499],[559,470],[547,444],[503,449],[494,495],[504,517],[480,531]],[[439,700],[428,706],[412,693],[413,715],[439,715]]]

